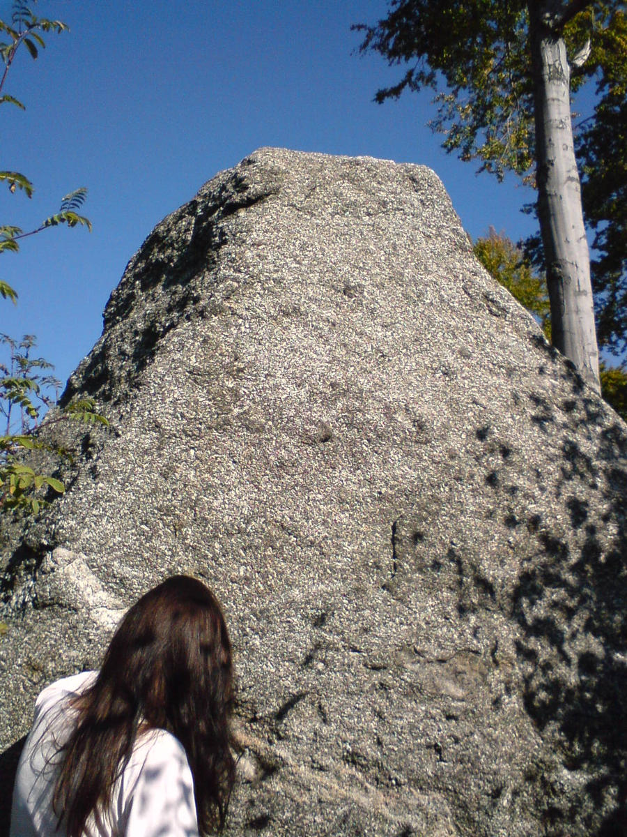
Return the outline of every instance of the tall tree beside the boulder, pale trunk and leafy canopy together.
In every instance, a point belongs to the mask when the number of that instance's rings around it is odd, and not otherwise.
[[[375,51],[390,65],[404,69],[397,84],[376,93],[376,101],[397,98],[405,90],[431,88],[436,116],[429,124],[441,132],[446,151],[456,152],[462,160],[477,161],[480,171],[492,172],[500,180],[511,171],[538,188],[536,211],[548,272],[553,336],[558,348],[573,361],[579,360],[579,366],[594,367],[594,358],[589,358],[596,346],[592,344],[594,334],[590,337],[582,331],[577,341],[589,341],[589,346],[583,357],[573,357],[577,349],[568,334],[571,325],[560,321],[568,308],[588,322],[592,320],[591,302],[586,302],[588,311],[579,311],[588,293],[589,257],[583,221],[577,219],[581,198],[568,97],[594,78],[604,100],[603,107],[598,106],[592,119],[580,127],[579,148],[583,158],[587,154],[584,182],[590,196],[586,203],[590,223],[594,223],[594,196],[597,245],[609,240],[615,268],[618,248],[614,233],[604,226],[608,221],[609,227],[614,223],[614,215],[609,218],[615,208],[614,193],[607,180],[596,176],[603,143],[594,128],[624,107],[624,14],[625,3],[593,0],[391,0],[386,18],[375,25],[354,27],[364,33],[361,52]],[[554,85],[552,90],[550,85]],[[555,110],[556,103],[562,107],[560,113]],[[624,110],[621,113],[624,115]],[[563,128],[568,130],[558,136],[556,131]],[[616,159],[622,158],[623,147],[617,138]],[[556,177],[555,163],[561,163],[562,150],[564,161]],[[563,207],[570,216],[560,220]],[[553,229],[556,218],[561,229]],[[607,270],[608,264],[599,264],[598,269],[595,265],[599,321],[600,312],[611,301],[609,286],[599,285],[599,276],[607,275]],[[623,305],[627,301],[620,293],[614,294],[612,311],[618,300]],[[594,324],[586,325],[588,331],[590,327],[594,331]]]

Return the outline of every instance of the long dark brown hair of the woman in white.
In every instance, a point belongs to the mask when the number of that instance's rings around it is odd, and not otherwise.
[[[181,742],[199,829],[222,829],[235,776],[232,700],[231,642],[217,598],[195,578],[168,578],[130,608],[94,685],[73,701],[76,727],[62,749],[53,799],[68,837],[80,837],[89,814],[110,804],[145,729]]]

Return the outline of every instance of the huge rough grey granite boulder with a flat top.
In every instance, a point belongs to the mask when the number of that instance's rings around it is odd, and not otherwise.
[[[5,767],[183,571],[237,655],[229,834],[627,833],[627,428],[433,172],[217,175],[130,260],[81,393],[110,433],[5,534]]]

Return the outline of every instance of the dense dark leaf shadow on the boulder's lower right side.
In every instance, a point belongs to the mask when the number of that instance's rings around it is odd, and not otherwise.
[[[602,430],[593,461],[564,437],[557,489],[567,498],[571,530],[528,521],[538,552],[513,597],[525,706],[554,737],[580,793],[592,798],[595,810],[579,809],[579,816],[597,837],[627,834],[627,471],[615,465],[625,443],[619,425]],[[600,492],[596,513],[591,490]],[[548,833],[552,820],[573,814],[548,806]]]

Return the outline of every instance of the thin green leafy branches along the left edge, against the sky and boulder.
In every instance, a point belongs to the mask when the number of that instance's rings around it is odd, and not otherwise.
[[[23,45],[31,58],[36,59],[39,49],[45,47],[41,33],[61,33],[67,28],[66,24],[59,20],[38,18],[25,0],[15,0],[11,23],[0,20],[0,37],[8,36],[8,40],[0,43],[0,59],[4,64],[4,71],[0,77],[0,105],[11,104],[23,109],[22,102],[12,95],[3,93],[8,70],[18,49]],[[28,198],[33,196],[33,184],[20,172],[1,171],[0,181],[7,183],[12,194],[19,190]],[[84,187],[65,195],[59,211],[29,232],[25,233],[23,229],[13,225],[0,226],[0,253],[16,253],[19,249],[19,239],[62,223],[69,227],[84,226],[91,230],[89,219],[79,214],[86,195],[87,189]],[[13,302],[16,302],[18,297],[16,291],[3,280],[0,280],[0,295]],[[56,401],[60,382],[50,374],[50,363],[43,357],[33,357],[32,350],[36,341],[32,335],[24,336],[21,341],[15,341],[8,335],[0,335],[0,344],[8,349],[8,361],[0,362],[0,416],[5,423],[4,434],[0,436],[0,513],[24,509],[29,514],[37,515],[42,507],[47,505],[48,492],[62,494],[65,487],[57,477],[40,474],[31,465],[27,465],[24,454],[28,451],[52,454],[59,464],[72,458],[70,450],[60,444],[50,444],[38,434],[43,413]],[[95,412],[94,402],[89,398],[69,403],[54,418],[48,418],[46,426],[69,420],[84,424],[109,424],[103,416]]]

